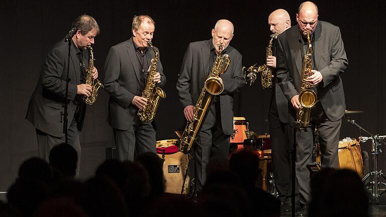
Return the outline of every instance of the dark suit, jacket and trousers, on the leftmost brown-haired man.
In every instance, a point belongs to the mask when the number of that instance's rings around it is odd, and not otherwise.
[[[48,160],[51,148],[65,141],[62,114],[64,114],[67,68],[69,68],[70,79],[68,84],[68,144],[76,149],[80,158],[78,131],[83,125],[85,103],[82,101],[82,95],[76,94],[76,85],[84,83],[85,69],[80,64],[81,60],[87,67],[88,52],[80,51],[72,42],[70,64],[68,65],[68,42],[61,40],[56,43],[46,57],[38,84],[30,98],[26,119],[36,128],[39,157],[43,159]],[[42,136],[49,138],[42,138]]]

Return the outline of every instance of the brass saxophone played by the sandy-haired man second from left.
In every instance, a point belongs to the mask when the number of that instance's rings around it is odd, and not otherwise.
[[[153,49],[155,56],[151,59],[149,76],[147,77],[145,89],[142,92],[142,97],[146,98],[147,102],[142,110],[138,110],[137,113],[139,119],[143,122],[153,121],[155,113],[157,112],[160,97],[166,98],[166,93],[160,87],[157,87],[156,83],[153,81],[154,75],[157,73],[158,52],[151,42],[148,42],[147,44]]]

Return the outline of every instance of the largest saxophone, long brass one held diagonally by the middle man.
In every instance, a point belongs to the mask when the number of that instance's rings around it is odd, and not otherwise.
[[[177,141],[178,151],[184,154],[188,154],[195,143],[215,96],[224,91],[224,84],[219,77],[220,74],[223,74],[228,69],[231,58],[228,54],[221,54],[222,46],[219,47],[219,50],[220,55],[217,55],[209,77],[205,81],[203,90],[194,107],[193,118],[187,123],[181,138]]]

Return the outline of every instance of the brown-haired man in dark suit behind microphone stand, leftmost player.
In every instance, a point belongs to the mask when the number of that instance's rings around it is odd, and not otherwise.
[[[68,145],[78,153],[79,176],[80,142],[79,131],[82,129],[85,103],[83,96],[90,96],[92,87],[85,84],[88,66],[87,46],[94,44],[94,37],[99,34],[96,21],[87,15],[81,15],[72,25],[70,61],[68,65],[68,42],[59,41],[48,53],[40,78],[31,96],[26,119],[36,128],[39,157],[48,161],[48,154],[55,146],[65,141],[63,133],[63,114],[66,103],[66,78],[68,71]],[[67,37],[66,37],[67,39]],[[93,79],[98,77],[98,70],[93,68]]]

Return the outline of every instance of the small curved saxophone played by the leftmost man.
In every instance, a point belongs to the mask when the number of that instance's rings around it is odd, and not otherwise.
[[[92,47],[87,46],[86,47],[90,56],[89,62],[88,62],[88,68],[86,70],[86,81],[85,84],[91,85],[91,95],[90,96],[83,96],[83,101],[89,105],[92,105],[96,101],[96,97],[98,97],[98,91],[99,88],[103,88],[103,84],[98,79],[94,79],[92,77],[93,70],[94,70],[94,54],[92,52]]]

